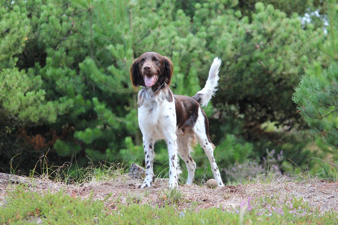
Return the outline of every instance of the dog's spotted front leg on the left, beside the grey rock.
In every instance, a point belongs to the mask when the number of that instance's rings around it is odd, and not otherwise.
[[[154,161],[154,141],[151,138],[143,137],[143,147],[146,161],[146,176],[143,184],[139,188],[151,187],[153,172],[153,161]]]

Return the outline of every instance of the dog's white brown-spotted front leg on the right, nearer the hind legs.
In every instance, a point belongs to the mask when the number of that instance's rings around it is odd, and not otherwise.
[[[177,182],[177,137],[175,134],[167,136],[169,154],[169,188],[178,186]]]

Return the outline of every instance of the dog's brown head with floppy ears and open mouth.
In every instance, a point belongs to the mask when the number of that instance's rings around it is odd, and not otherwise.
[[[163,83],[170,85],[173,66],[170,59],[156,52],[145,52],[130,66],[130,80],[136,88],[157,88]]]

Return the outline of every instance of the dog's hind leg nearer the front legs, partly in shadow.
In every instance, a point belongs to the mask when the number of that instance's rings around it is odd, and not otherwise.
[[[192,185],[194,181],[194,174],[196,169],[196,163],[190,156],[192,137],[190,133],[184,135],[177,135],[178,154],[181,159],[184,160],[188,170],[187,185]]]

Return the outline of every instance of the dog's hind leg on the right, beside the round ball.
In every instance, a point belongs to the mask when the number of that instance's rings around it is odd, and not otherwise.
[[[193,128],[197,140],[201,147],[203,148],[204,152],[206,153],[209,162],[211,164],[211,170],[214,174],[215,180],[217,181],[217,184],[219,187],[223,187],[224,184],[222,182],[221,174],[219,173],[219,169],[217,167],[217,164],[215,162],[214,158],[214,144],[211,143],[210,137],[209,137],[209,122],[207,119],[206,114],[204,111],[202,111],[201,108],[198,109],[198,118]]]

